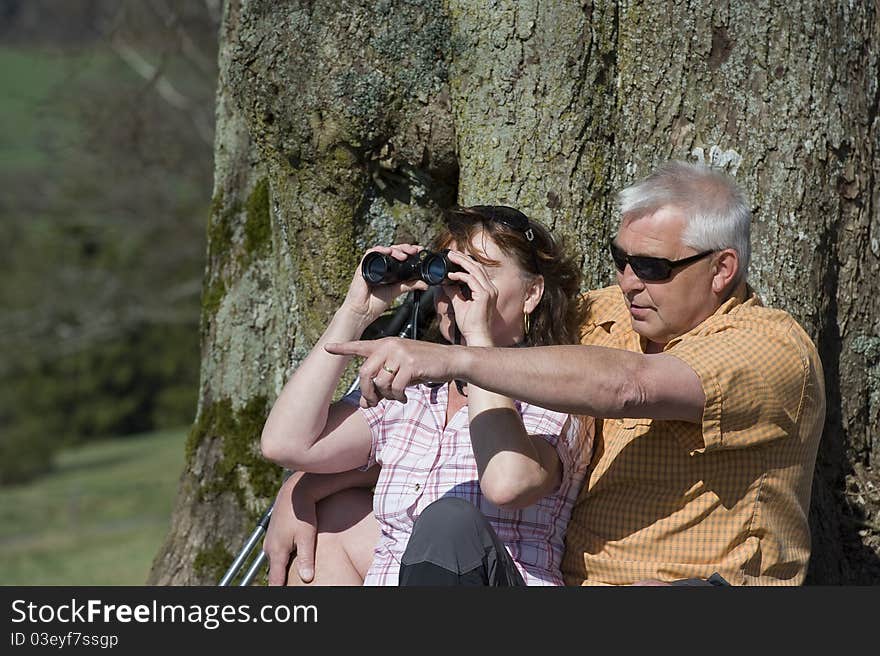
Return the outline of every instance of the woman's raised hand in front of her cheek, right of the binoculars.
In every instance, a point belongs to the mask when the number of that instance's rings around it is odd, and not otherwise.
[[[460,251],[449,251],[449,260],[464,271],[449,274],[449,279],[468,287],[470,298],[460,285],[446,285],[444,291],[452,303],[455,323],[468,346],[494,346],[492,322],[495,318],[498,288],[486,267]]]

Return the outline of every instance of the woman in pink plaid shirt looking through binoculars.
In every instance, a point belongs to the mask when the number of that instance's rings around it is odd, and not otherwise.
[[[577,343],[579,275],[543,226],[503,206],[459,208],[446,218],[434,247],[450,249],[449,261],[461,270],[449,274],[435,301],[445,339]],[[372,249],[400,261],[419,250]],[[357,394],[330,404],[348,358],[324,345],[358,338],[396,296],[426,288],[422,281],[370,286],[358,271],[266,422],[267,458],[297,471],[338,473],[309,479],[315,499],[345,490],[331,497],[342,512],[319,509],[315,583],[396,585],[415,519],[434,501],[455,497],[479,509],[503,542],[512,582],[561,585],[564,530],[589,461],[591,422],[473,385],[413,385],[400,401],[373,408],[358,408]],[[392,385],[399,366],[384,367],[375,380]],[[378,479],[370,469],[377,463]],[[347,488],[373,483],[371,515],[369,492]]]

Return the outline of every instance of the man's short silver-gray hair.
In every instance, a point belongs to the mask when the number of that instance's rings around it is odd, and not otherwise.
[[[671,205],[685,215],[682,241],[698,251],[732,248],[739,256],[737,282],[746,280],[752,212],[733,178],[704,164],[666,162],[617,196],[621,221]]]

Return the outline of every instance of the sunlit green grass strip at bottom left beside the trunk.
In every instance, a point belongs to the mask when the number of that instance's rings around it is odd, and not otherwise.
[[[0,584],[141,585],[170,526],[185,429],[62,452],[0,488]]]

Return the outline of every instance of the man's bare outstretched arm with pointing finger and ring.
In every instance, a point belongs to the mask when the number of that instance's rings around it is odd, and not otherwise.
[[[330,353],[366,358],[361,403],[406,399],[420,381],[471,382],[534,405],[594,417],[645,417],[698,423],[705,394],[678,358],[601,346],[478,348],[398,338],[327,344]],[[393,373],[392,373],[393,372]]]

